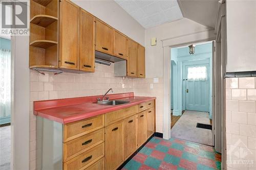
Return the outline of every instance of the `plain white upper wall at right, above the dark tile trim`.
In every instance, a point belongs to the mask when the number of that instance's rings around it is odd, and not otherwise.
[[[256,1],[228,0],[226,15],[227,72],[256,70]]]

